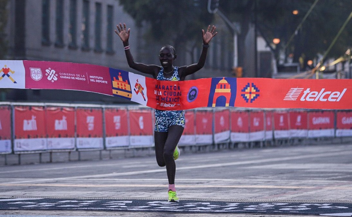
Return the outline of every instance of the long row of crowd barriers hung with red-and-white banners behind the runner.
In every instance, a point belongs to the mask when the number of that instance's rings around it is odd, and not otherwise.
[[[278,144],[352,136],[351,110],[186,110],[180,147]],[[152,148],[153,109],[136,105],[0,103],[0,154]]]

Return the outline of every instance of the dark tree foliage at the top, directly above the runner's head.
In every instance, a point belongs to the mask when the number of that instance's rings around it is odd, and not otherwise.
[[[120,0],[137,26],[150,25],[149,33],[158,41],[179,46],[196,37],[210,24],[213,16],[204,0]]]

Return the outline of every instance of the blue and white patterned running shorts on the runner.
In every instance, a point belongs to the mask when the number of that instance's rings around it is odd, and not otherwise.
[[[168,132],[172,125],[179,125],[184,128],[184,111],[163,111],[155,110],[154,131]]]

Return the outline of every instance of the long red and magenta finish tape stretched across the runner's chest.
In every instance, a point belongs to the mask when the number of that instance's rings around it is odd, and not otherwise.
[[[0,88],[89,91],[159,110],[228,106],[352,109],[351,79],[214,77],[158,81],[91,64],[0,60]]]

